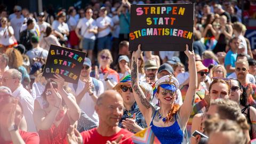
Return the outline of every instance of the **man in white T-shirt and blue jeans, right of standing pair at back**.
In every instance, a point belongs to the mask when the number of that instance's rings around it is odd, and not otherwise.
[[[111,49],[111,30],[114,28],[114,23],[107,16],[106,7],[101,7],[99,18],[96,20],[98,26],[98,51],[103,49]]]

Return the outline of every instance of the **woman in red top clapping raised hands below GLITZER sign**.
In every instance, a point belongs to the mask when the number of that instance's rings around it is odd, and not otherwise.
[[[38,108],[35,102],[34,121],[40,137],[40,143],[67,143],[67,130],[79,119],[80,109],[72,94],[64,89],[64,79],[56,74],[54,81],[47,83],[42,97],[47,106]]]

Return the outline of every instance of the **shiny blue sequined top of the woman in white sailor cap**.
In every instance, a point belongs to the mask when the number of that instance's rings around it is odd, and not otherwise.
[[[153,116],[153,119],[156,115],[157,110]],[[158,140],[163,143],[181,143],[183,139],[182,130],[177,122],[176,114],[175,114],[175,122],[168,127],[157,127],[153,124],[153,120],[150,123],[151,130],[154,132]]]

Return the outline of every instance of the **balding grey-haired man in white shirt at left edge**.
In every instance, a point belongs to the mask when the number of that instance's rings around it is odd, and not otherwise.
[[[29,132],[36,132],[33,119],[34,100],[31,94],[21,84],[21,73],[17,69],[6,70],[2,77],[2,83],[12,91],[12,96],[18,98],[23,109]]]

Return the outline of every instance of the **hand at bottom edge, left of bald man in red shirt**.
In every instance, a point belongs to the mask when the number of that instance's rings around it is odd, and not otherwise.
[[[83,137],[82,135],[77,131],[77,129],[74,128],[73,125],[69,126],[68,129],[68,143],[69,144],[82,144],[83,143]]]

